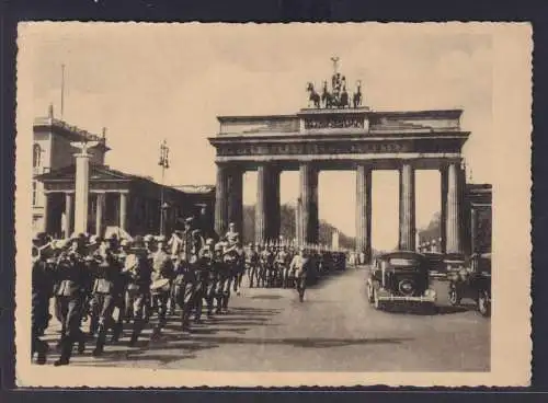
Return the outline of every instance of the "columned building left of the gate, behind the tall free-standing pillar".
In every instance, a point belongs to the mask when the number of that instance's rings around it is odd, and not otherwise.
[[[95,142],[90,148],[87,189],[85,232],[123,237],[158,234],[163,215],[164,233],[183,227],[182,218],[194,216],[207,228],[213,226],[214,186],[163,186],[149,177],[128,174],[104,164],[109,151],[105,130],[101,136],[70,126],[53,117],[34,123],[33,229],[57,238],[68,238],[75,223],[77,165],[80,149],[71,142]],[[163,199],[163,205],[162,200]],[[87,202],[87,203],[85,203]],[[209,224],[210,223],[210,224]]]

